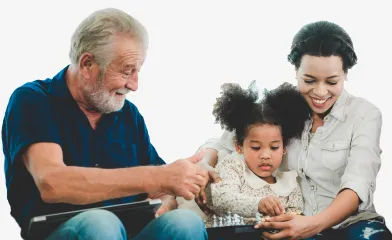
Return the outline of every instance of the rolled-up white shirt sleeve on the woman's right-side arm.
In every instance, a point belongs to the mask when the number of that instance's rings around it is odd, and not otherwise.
[[[373,107],[353,129],[350,155],[340,189],[348,188],[357,193],[361,200],[359,210],[367,210],[373,205],[376,177],[381,166],[381,126],[381,112]]]

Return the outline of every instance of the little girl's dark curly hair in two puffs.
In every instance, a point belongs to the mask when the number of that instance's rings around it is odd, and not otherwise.
[[[250,85],[243,89],[239,84],[222,85],[221,97],[214,104],[215,122],[228,130],[235,130],[236,141],[242,145],[251,127],[258,125],[279,126],[283,145],[301,136],[310,108],[296,87],[283,83],[265,93],[259,100],[258,91]]]

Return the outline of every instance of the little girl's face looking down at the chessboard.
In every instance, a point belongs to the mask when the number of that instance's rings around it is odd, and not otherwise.
[[[272,173],[279,168],[286,153],[280,127],[256,125],[249,129],[243,146],[236,144],[237,151],[244,154],[248,168],[261,179],[274,183]]]

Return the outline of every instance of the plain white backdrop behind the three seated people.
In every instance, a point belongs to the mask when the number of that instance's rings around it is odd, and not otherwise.
[[[54,76],[69,63],[70,37],[91,12],[116,7],[141,21],[150,48],[139,90],[130,94],[146,120],[160,155],[172,162],[195,152],[222,130],[212,105],[224,82],[260,89],[283,81],[295,84],[287,62],[291,40],[300,27],[317,20],[340,24],[351,35],[358,64],[346,88],[376,104],[383,113],[382,167],[375,204],[392,228],[392,133],[390,64],[392,35],[387,1],[8,1],[0,6],[1,119],[12,91],[35,79]],[[185,3],[186,2],[186,3]],[[295,3],[294,3],[295,2]],[[4,158],[1,155],[0,162]],[[5,179],[0,174],[0,232],[19,239],[9,215]],[[4,237],[1,237],[2,239]]]

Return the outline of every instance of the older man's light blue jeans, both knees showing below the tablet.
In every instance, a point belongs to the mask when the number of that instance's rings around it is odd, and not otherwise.
[[[106,210],[89,210],[60,225],[47,240],[127,238],[124,225],[116,215]],[[199,216],[177,209],[152,220],[132,239],[207,239],[207,232]]]

